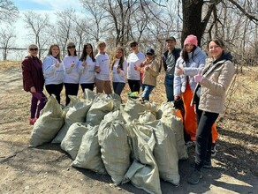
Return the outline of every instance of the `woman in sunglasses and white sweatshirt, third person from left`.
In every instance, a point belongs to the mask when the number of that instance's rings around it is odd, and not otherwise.
[[[65,85],[65,106],[70,103],[70,98],[68,95],[77,96],[79,90],[79,57],[76,53],[75,44],[73,41],[67,41],[67,56],[63,59],[65,66],[64,74],[64,85]]]

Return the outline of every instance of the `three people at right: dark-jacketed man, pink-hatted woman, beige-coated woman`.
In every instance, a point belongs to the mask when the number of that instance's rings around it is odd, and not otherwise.
[[[166,42],[163,66],[167,100],[184,110],[180,117],[186,134],[195,142],[194,171],[187,181],[196,184],[202,177],[201,168],[212,168],[212,147],[218,137],[215,122],[224,112],[226,90],[235,70],[221,39],[208,42],[209,59],[193,34],[186,37],[182,51],[175,48],[174,37]]]

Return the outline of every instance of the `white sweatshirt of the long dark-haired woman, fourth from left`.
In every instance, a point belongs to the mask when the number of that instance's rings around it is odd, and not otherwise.
[[[82,66],[83,61],[79,61],[79,72],[80,72],[80,84],[93,84],[95,83],[95,62],[90,56],[87,56],[87,65]]]

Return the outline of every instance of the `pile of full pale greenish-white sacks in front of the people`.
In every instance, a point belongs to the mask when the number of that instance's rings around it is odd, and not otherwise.
[[[171,102],[159,108],[117,94],[84,99],[70,96],[62,109],[51,96],[34,123],[30,146],[60,143],[72,157],[72,166],[109,174],[118,185],[131,181],[148,193],[162,193],[160,177],[179,184],[178,160],[187,159],[183,124]]]

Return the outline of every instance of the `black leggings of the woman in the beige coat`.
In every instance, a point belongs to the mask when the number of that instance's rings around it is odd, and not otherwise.
[[[198,128],[196,131],[196,146],[195,146],[195,168],[198,170],[203,166],[204,160],[209,161],[211,157],[212,135],[211,128],[216,122],[218,113],[202,111],[199,107],[199,101],[196,104],[196,116]]]

